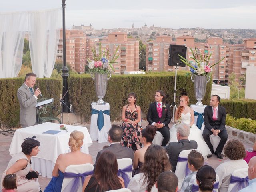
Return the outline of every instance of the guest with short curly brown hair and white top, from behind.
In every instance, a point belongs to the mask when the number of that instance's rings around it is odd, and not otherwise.
[[[227,192],[230,184],[231,174],[236,169],[248,168],[245,157],[244,145],[238,140],[230,140],[224,148],[224,154],[228,160],[216,168],[216,174],[219,176],[219,191]]]

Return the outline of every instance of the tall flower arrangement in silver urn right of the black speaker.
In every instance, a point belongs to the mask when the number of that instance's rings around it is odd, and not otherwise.
[[[195,47],[195,52],[193,51],[192,48],[190,48],[190,50],[193,55],[191,58],[196,62],[195,65],[193,65],[191,63],[191,61],[187,60],[186,58],[182,57],[181,55],[179,55],[179,56],[180,56],[180,60],[182,62],[184,62],[184,64],[186,64],[187,66],[190,67],[190,72],[194,75],[210,76],[210,74],[212,72],[212,67],[224,59],[224,58],[222,58],[215,64],[210,65],[210,57],[211,57],[212,53],[210,53],[210,55],[209,55],[208,52],[204,52],[204,53],[202,53],[201,51],[199,52],[198,49],[196,49],[196,47]]]

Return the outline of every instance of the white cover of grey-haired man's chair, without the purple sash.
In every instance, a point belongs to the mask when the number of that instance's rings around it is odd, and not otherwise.
[[[188,149],[188,150],[183,150],[180,152],[179,154],[179,158],[188,158],[188,154],[192,151],[193,149]],[[198,150],[197,150],[198,151]],[[198,151],[200,152],[200,151]],[[175,175],[178,177],[179,183],[178,183],[178,187],[180,188],[182,185],[182,182],[186,176],[185,174],[185,170],[188,164],[188,160],[186,161],[178,161],[177,162],[177,166],[176,166],[176,170],[175,170]]]

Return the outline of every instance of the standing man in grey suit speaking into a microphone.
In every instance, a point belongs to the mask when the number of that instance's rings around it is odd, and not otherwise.
[[[36,124],[36,100],[41,93],[40,89],[34,90],[36,74],[28,73],[25,81],[17,91],[20,103],[20,124],[22,128]]]

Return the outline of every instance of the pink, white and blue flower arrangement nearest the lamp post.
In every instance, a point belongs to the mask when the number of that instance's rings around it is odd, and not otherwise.
[[[102,50],[101,42],[99,46],[99,53],[96,52],[96,47],[92,47],[91,49],[89,47],[86,48],[86,51],[88,51],[89,57],[87,58],[87,61],[89,63],[89,72],[90,73],[111,73],[111,71],[114,71],[113,63],[117,63],[116,60],[119,57],[118,48],[116,48],[116,51],[114,52],[113,56],[110,54],[109,48],[105,48]]]

